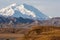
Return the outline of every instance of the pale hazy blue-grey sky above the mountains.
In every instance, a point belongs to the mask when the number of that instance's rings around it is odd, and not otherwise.
[[[60,0],[0,0],[0,9],[13,3],[26,3],[48,16],[60,16]]]

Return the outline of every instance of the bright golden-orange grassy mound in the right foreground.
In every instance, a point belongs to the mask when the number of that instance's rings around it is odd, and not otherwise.
[[[33,26],[26,34],[26,40],[60,40],[60,27]]]

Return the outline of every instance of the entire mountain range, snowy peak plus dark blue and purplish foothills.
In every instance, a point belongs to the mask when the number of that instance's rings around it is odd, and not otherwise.
[[[39,23],[43,26],[60,26],[59,20],[60,17],[50,18],[28,4],[17,5],[14,3],[0,10],[0,24]]]

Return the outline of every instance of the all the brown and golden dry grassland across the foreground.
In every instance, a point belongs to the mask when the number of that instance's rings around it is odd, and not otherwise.
[[[60,40],[60,27],[54,26],[32,26],[29,29],[2,28],[0,29],[1,33],[5,34],[6,38],[10,35],[10,37],[15,37],[16,40]],[[2,35],[0,35],[0,38]]]

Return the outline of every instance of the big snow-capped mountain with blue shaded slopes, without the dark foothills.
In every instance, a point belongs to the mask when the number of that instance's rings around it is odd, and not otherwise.
[[[16,3],[7,6],[5,8],[2,8],[0,10],[0,15],[5,17],[22,17],[22,18],[28,18],[28,19],[34,19],[34,20],[46,20],[49,17],[40,12],[38,9],[31,5],[22,4],[17,5]]]

